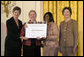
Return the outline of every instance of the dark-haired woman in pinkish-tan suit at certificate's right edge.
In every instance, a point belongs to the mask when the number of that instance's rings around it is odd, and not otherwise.
[[[44,41],[43,56],[58,55],[58,26],[54,23],[53,15],[47,12],[44,15],[44,21],[48,23],[47,38]]]

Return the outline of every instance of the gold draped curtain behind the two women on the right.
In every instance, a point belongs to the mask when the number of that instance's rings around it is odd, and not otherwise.
[[[72,9],[71,18],[78,21],[78,53],[76,55],[83,56],[83,1],[44,1],[43,11],[52,12],[54,21],[58,25],[64,20],[62,10],[64,7],[69,6]],[[58,52],[58,56],[62,56]]]

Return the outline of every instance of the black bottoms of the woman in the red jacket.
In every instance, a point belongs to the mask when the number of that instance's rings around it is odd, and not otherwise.
[[[41,56],[40,46],[23,45],[23,56]]]

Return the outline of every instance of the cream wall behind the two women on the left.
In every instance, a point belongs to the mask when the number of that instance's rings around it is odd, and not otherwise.
[[[43,1],[16,1],[16,5],[22,10],[19,19],[24,23],[29,20],[28,13],[30,10],[36,10],[37,21],[43,21]],[[13,9],[13,8],[12,8]],[[4,41],[6,37],[6,20],[12,16],[9,14],[8,18],[5,13],[1,14],[1,56],[4,56]]]

